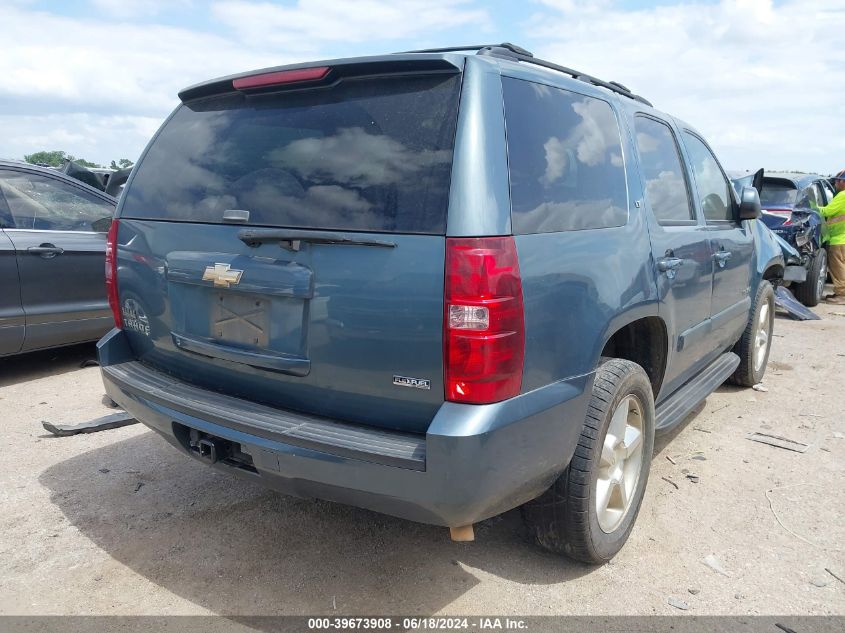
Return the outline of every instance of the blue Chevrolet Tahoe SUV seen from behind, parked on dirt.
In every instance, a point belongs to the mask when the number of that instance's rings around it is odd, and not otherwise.
[[[108,239],[108,394],[285,493],[624,544],[654,434],[759,382],[757,193],[624,86],[503,44],[216,79]]]

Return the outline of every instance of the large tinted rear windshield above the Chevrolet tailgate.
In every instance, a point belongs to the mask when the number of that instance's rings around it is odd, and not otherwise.
[[[446,229],[460,76],[347,79],[182,105],[124,193],[123,217],[373,232]]]

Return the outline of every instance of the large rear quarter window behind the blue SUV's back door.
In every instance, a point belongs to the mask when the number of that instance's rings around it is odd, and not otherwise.
[[[514,233],[625,224],[622,140],[610,104],[509,77],[502,86]]]

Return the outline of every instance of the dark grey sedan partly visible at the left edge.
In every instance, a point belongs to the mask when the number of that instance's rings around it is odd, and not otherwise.
[[[116,201],[55,169],[0,161],[0,355],[100,338]]]

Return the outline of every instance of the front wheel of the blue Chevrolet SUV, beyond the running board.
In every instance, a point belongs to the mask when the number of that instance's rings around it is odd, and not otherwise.
[[[772,285],[763,280],[757,288],[757,296],[754,298],[745,331],[734,345],[733,352],[739,356],[739,366],[728,379],[729,382],[740,387],[752,387],[763,380],[772,349],[774,322],[775,293]],[[762,333],[765,334],[765,340],[758,339],[764,324],[766,329]]]

